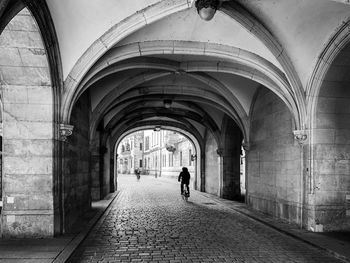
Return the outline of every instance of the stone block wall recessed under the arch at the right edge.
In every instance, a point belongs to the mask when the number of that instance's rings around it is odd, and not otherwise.
[[[311,142],[314,220],[325,231],[350,230],[349,61],[347,46],[325,76]]]

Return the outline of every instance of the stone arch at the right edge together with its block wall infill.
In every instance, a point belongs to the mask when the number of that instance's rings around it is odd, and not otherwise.
[[[310,177],[307,193],[312,198],[309,228],[348,230],[349,189],[350,20],[332,36],[321,53],[308,86]],[[327,154],[320,154],[324,152]],[[325,165],[326,164],[326,165]]]

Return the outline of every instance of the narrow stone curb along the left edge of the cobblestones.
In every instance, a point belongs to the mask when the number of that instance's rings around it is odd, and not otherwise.
[[[112,195],[113,197],[108,201],[108,205],[102,209],[102,211],[96,213],[96,215],[89,221],[87,224],[87,227],[77,234],[69,243],[68,245],[58,254],[58,256],[52,261],[52,263],[64,263],[66,262],[70,256],[73,254],[73,252],[76,250],[76,248],[85,240],[85,238],[90,234],[91,230],[95,226],[101,225],[103,220],[106,218],[106,216],[109,214],[111,210],[111,204],[114,200],[119,198],[120,191],[117,191]]]

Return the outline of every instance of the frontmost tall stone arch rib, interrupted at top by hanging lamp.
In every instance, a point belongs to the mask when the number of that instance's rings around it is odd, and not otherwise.
[[[163,7],[164,9],[162,10],[160,7]],[[120,24],[113,26],[100,39],[96,40],[82,55],[76,65],[74,65],[73,69],[65,80],[65,87],[68,93],[72,91],[74,92],[77,85],[80,84],[82,78],[95,63],[95,61],[102,57],[121,39],[147,25],[149,22],[154,22],[166,17],[167,15],[190,7],[191,4],[188,1],[162,1],[159,4],[137,12],[126,20],[123,20]],[[162,10],[162,12],[160,12],[160,10]],[[292,97],[294,98],[293,100],[295,100],[293,104],[295,103],[297,105],[295,108],[297,114],[296,125],[299,128],[304,127],[306,109],[302,85],[288,55],[283,50],[283,47],[279,44],[278,40],[259,21],[257,21],[256,18],[249,14],[238,3],[225,3],[220,10],[235,19],[244,28],[254,34],[275,55],[286,72],[289,82],[291,83]],[[68,101],[70,100],[71,98],[68,98]],[[64,104],[66,104],[66,101]],[[67,114],[66,111],[67,104],[63,105],[61,110],[62,114],[65,116],[64,119],[68,120],[69,113]]]

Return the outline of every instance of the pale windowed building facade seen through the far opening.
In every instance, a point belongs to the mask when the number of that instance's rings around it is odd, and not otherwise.
[[[134,143],[134,147],[130,144]],[[196,151],[193,144],[177,132],[144,130],[125,137],[118,147],[118,173],[155,177],[177,177],[182,167],[195,176]]]

